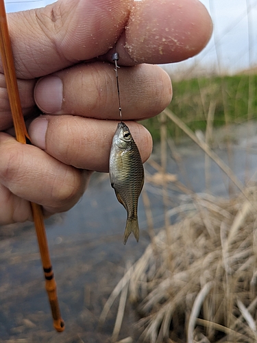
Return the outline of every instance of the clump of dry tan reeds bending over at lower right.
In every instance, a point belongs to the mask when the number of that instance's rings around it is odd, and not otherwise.
[[[257,206],[256,185],[247,192]],[[195,195],[193,204],[194,211],[169,226],[170,245],[167,229],[154,237],[112,301],[129,285],[145,342],[256,342],[257,222],[251,205],[243,194],[230,200]],[[110,302],[105,316],[109,308]]]

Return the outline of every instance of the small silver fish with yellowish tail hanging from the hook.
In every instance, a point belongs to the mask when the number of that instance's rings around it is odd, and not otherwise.
[[[130,133],[130,129],[122,121],[112,139],[110,149],[110,182],[117,199],[127,210],[127,224],[123,236],[126,244],[130,233],[139,238],[138,198],[144,184],[144,168],[138,147]]]

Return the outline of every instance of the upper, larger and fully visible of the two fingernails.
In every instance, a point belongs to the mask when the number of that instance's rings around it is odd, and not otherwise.
[[[47,76],[38,81],[34,90],[37,106],[43,113],[56,113],[62,108],[63,84],[58,76]]]

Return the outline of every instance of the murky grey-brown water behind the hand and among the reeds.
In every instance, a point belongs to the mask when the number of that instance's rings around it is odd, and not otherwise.
[[[169,156],[168,169],[195,192],[204,191],[205,156],[195,145],[180,147],[182,165]],[[225,149],[217,150],[228,163]],[[254,145],[245,151],[243,144],[230,151],[230,165],[242,182],[257,170]],[[158,160],[158,154],[153,156]],[[154,173],[149,165],[147,174]],[[228,178],[210,162],[210,192],[228,196]],[[247,172],[245,172],[245,170]],[[147,183],[156,230],[164,224],[162,191]],[[234,189],[235,190],[235,189]],[[190,202],[173,185],[168,189],[169,209]],[[58,296],[66,331],[52,329],[47,295],[44,289],[38,246],[31,224],[23,228],[1,228],[0,240],[0,342],[108,342],[117,313],[114,304],[106,324],[99,330],[98,318],[106,299],[123,275],[128,261],[134,262],[149,243],[143,202],[138,217],[141,228],[137,244],[130,237],[123,246],[125,209],[117,202],[108,176],[95,174],[82,200],[68,213],[47,221],[47,237],[53,268],[58,283]],[[175,220],[175,218],[171,218]],[[132,325],[138,317],[128,305],[121,328],[121,338],[128,335],[138,340]]]

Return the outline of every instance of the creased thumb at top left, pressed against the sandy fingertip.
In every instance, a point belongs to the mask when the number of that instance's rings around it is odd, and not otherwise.
[[[59,0],[45,8],[8,14],[18,78],[40,77],[105,54],[123,30],[130,3]]]

